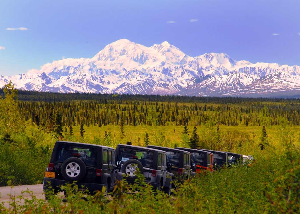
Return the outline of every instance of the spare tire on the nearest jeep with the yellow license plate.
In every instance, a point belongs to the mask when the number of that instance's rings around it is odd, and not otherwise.
[[[61,165],[61,175],[67,181],[81,181],[86,174],[85,163],[76,157],[66,159]]]

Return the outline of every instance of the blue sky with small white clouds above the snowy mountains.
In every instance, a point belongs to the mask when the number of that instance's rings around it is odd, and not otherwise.
[[[299,0],[1,0],[0,75],[91,58],[122,38],[167,40],[190,56],[300,65],[299,8]]]

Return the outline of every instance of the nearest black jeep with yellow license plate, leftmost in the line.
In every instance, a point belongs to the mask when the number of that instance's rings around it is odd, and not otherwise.
[[[56,141],[50,163],[44,177],[44,191],[52,188],[60,192],[60,186],[76,181],[89,192],[113,190],[116,180],[122,180],[123,173],[116,167],[114,148],[94,144]],[[47,199],[47,195],[45,195]]]

